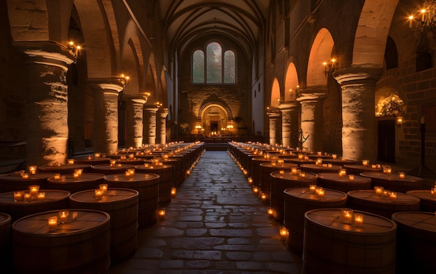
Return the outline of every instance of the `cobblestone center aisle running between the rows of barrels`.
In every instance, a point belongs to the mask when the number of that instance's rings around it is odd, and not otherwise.
[[[279,224],[227,151],[206,151],[166,217],[138,231],[138,250],[117,273],[301,273]]]

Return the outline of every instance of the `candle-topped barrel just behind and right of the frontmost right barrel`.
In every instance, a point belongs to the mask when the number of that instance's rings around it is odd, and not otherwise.
[[[368,211],[386,218],[400,211],[419,211],[419,198],[397,193],[395,201],[389,197],[378,197],[374,190],[352,190],[348,192],[348,207]]]

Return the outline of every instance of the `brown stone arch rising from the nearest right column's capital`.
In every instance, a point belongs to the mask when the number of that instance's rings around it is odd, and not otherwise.
[[[357,24],[352,64],[383,66],[384,50],[398,0],[366,0]]]

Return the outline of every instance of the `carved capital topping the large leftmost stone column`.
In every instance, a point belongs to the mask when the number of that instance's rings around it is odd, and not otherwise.
[[[27,54],[34,63],[57,66],[63,70],[68,70],[68,66],[75,61],[69,47],[58,43],[20,45],[17,48]]]

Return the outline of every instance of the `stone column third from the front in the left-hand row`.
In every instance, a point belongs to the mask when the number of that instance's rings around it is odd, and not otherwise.
[[[147,102],[145,96],[127,96],[126,98],[126,139],[127,147],[139,148],[143,140],[143,105]]]

